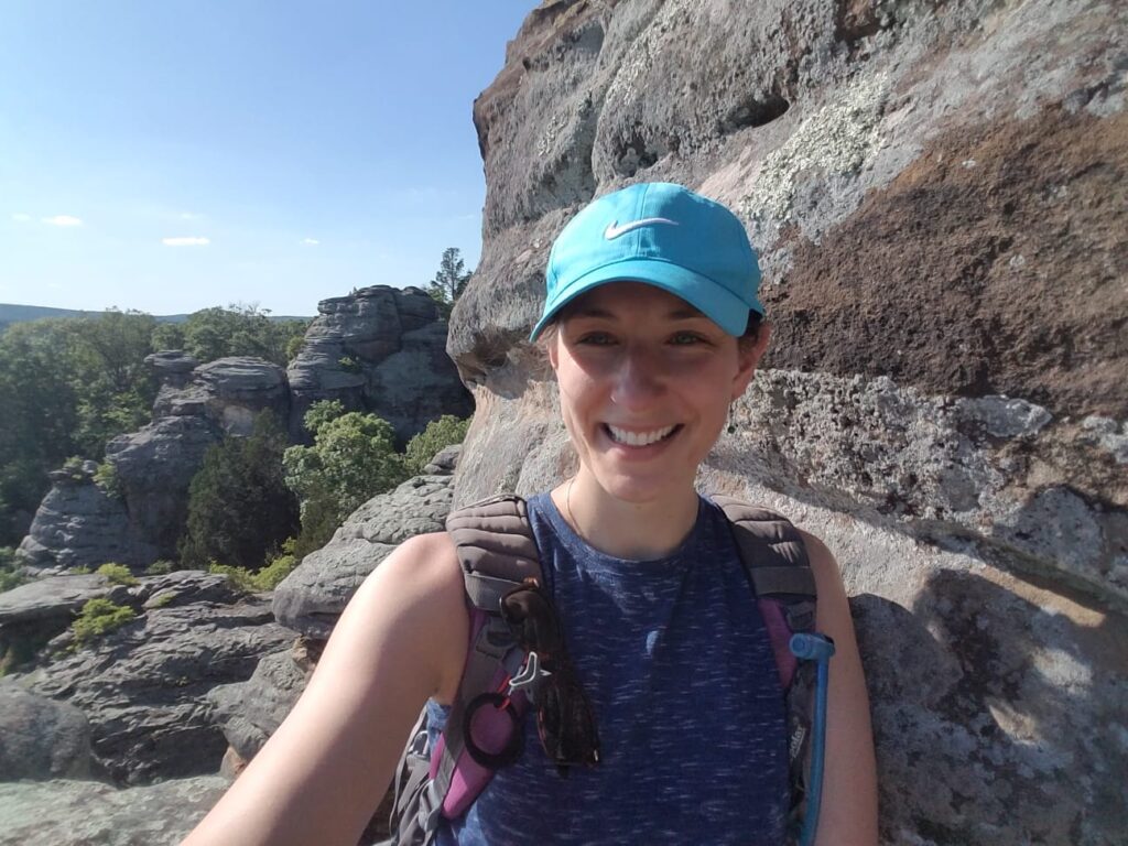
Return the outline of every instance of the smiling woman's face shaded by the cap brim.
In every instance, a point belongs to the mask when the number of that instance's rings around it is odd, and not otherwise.
[[[741,344],[695,308],[641,282],[570,305],[548,356],[583,467],[611,495],[647,502],[691,486],[767,345]]]

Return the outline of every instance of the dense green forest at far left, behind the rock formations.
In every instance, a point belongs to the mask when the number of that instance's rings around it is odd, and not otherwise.
[[[297,354],[308,321],[273,320],[254,306],[209,308],[183,324],[109,310],[8,326],[0,334],[0,544],[16,545],[68,456],[99,460],[106,441],[146,425],[157,381],[144,359],[183,349],[201,363]],[[98,477],[115,490],[107,470]]]

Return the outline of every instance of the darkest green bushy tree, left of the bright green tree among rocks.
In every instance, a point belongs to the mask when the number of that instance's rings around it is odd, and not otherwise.
[[[246,438],[210,448],[188,486],[188,519],[180,540],[185,566],[258,570],[298,529],[298,503],[282,476],[285,432],[270,412]]]

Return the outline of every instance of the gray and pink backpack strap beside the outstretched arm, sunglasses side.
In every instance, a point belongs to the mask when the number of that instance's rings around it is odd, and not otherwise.
[[[527,578],[543,580],[528,510],[520,496],[494,496],[452,511],[447,532],[455,544],[470,605],[470,643],[458,696],[430,767],[405,781],[403,801],[393,811],[397,843],[429,843],[439,816],[457,817],[488,783],[492,773],[473,760],[466,744],[466,710],[479,695],[493,693],[520,666],[501,599]],[[406,752],[405,752],[406,755]],[[403,769],[403,765],[402,765]]]

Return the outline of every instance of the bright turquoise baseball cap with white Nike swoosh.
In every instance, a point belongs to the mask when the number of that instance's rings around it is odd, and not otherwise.
[[[669,291],[738,337],[749,311],[764,314],[760,266],[737,215],[681,185],[641,183],[592,201],[556,237],[529,340],[580,294],[623,281]]]

